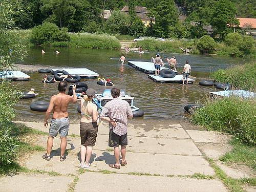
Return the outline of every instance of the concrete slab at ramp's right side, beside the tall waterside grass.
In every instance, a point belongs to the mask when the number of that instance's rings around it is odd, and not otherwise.
[[[231,139],[230,135],[220,132],[195,130],[186,130],[186,132],[191,137],[191,139],[193,139],[195,142],[200,143],[228,143]]]

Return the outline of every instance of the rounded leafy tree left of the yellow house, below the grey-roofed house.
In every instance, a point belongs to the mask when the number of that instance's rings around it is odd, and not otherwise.
[[[106,20],[105,30],[111,34],[125,34],[129,23],[130,19],[128,15],[119,10],[115,10],[112,12],[110,18]]]

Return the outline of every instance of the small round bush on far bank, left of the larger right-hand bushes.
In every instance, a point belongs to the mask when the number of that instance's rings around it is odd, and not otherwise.
[[[215,40],[211,38],[209,35],[202,36],[197,42],[197,48],[202,53],[215,50],[216,47],[217,44]]]

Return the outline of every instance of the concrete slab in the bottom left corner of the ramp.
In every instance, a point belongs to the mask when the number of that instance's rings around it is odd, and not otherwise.
[[[68,185],[73,181],[73,179],[73,177],[67,176],[18,174],[15,176],[0,178],[0,191],[68,191]]]

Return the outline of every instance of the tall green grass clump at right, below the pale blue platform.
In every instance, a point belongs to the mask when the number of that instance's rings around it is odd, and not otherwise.
[[[208,100],[191,117],[208,130],[224,131],[241,142],[256,145],[256,101],[239,97]]]

